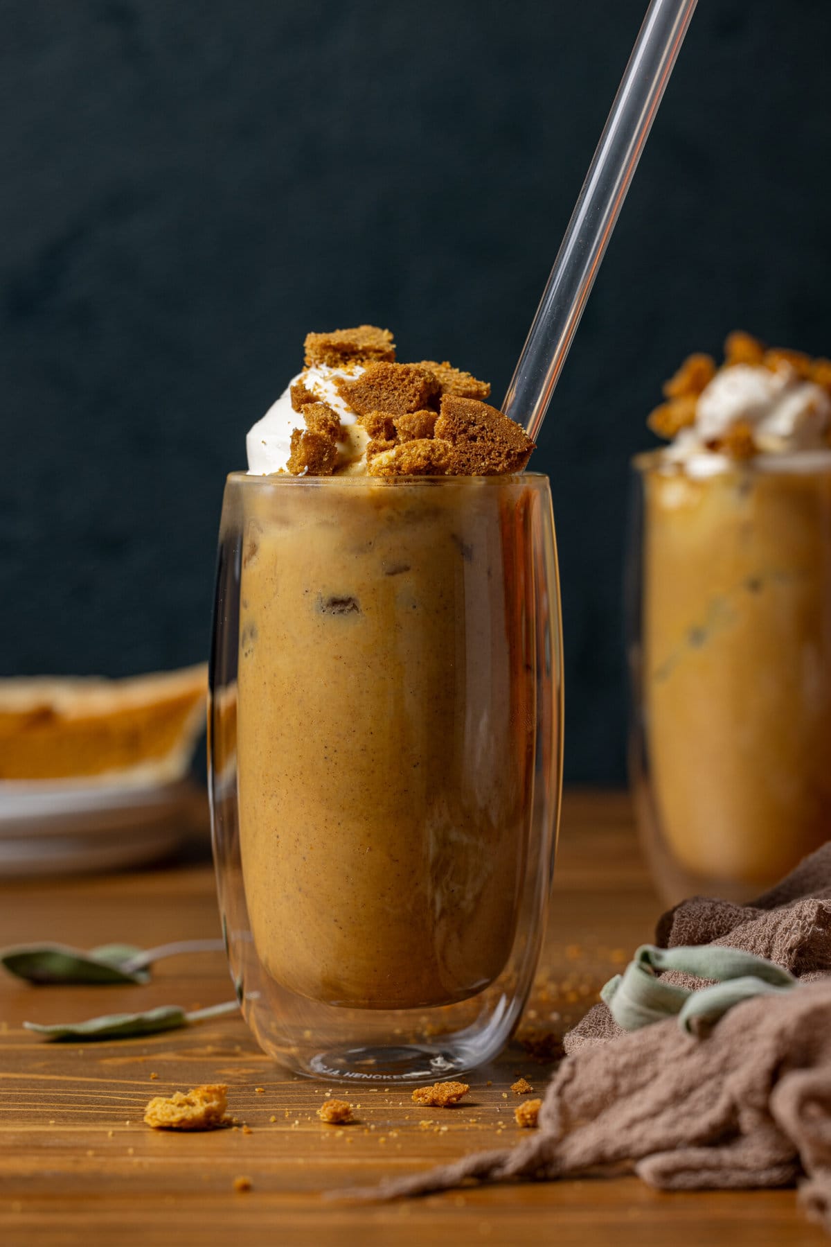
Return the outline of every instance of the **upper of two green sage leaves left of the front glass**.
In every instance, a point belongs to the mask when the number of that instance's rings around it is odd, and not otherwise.
[[[0,965],[16,978],[37,985],[150,983],[148,968],[162,958],[179,953],[218,953],[223,948],[218,939],[178,940],[151,949],[102,944],[88,951],[67,944],[15,944],[0,949]]]

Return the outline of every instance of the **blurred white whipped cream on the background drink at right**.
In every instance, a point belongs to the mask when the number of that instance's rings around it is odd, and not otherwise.
[[[790,364],[776,370],[756,364],[723,368],[699,395],[695,424],[681,429],[664,451],[669,463],[709,476],[731,460],[711,443],[748,424],[761,454],[819,450],[831,424],[831,398],[821,385],[802,380]]]

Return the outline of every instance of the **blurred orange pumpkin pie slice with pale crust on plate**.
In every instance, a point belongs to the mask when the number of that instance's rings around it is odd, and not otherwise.
[[[207,666],[127,680],[0,680],[0,781],[167,783],[204,725]]]

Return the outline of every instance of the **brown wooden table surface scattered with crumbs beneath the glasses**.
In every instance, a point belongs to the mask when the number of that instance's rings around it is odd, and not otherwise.
[[[659,909],[628,799],[567,796],[546,950],[517,1039],[470,1076],[460,1109],[422,1110],[406,1094],[361,1087],[348,1096],[360,1104],[359,1121],[341,1129],[315,1115],[329,1087],[277,1066],[238,1018],[98,1044],[50,1045],[21,1028],[24,1019],[70,1021],[229,999],[222,954],[159,963],[145,986],[32,988],[0,971],[0,1243],[191,1247],[232,1242],[242,1231],[254,1231],[248,1241],[257,1243],[341,1247],[825,1243],[792,1190],[660,1193],[622,1177],[466,1188],[387,1205],[325,1198],[330,1190],[518,1141],[510,1084],[522,1074],[542,1094],[554,1067],[532,1059],[522,1040],[562,1035],[650,936]],[[151,946],[218,932],[204,842],[153,869],[0,884],[0,944]],[[227,1082],[229,1109],[249,1130],[182,1135],[142,1124],[151,1096],[201,1082]],[[237,1177],[250,1178],[250,1190],[237,1191]]]

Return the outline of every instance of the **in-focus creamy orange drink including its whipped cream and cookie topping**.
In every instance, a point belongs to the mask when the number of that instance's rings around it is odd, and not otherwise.
[[[486,478],[532,443],[487,394],[396,363],[384,330],[313,334],[249,434],[242,868],[259,961],[311,1000],[463,1000],[513,943],[534,687],[512,604],[533,570],[528,490]]]

